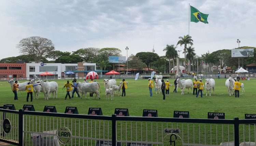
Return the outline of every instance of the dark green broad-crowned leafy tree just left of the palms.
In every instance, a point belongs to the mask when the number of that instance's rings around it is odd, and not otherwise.
[[[158,54],[153,52],[139,52],[135,56],[139,57],[141,61],[146,64],[148,71],[151,68],[151,65],[154,62],[154,60],[159,59]]]

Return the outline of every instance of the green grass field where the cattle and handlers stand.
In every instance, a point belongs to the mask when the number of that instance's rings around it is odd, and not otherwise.
[[[87,114],[89,107],[100,107],[103,115],[112,115],[115,108],[128,108],[130,116],[142,116],[143,109],[156,109],[158,110],[158,117],[173,117],[173,111],[189,111],[190,118],[207,118],[208,112],[224,112],[226,119],[233,119],[233,117],[239,117],[244,119],[245,113],[256,113],[256,105],[254,103],[254,86],[255,79],[241,80],[244,83],[245,92],[240,91],[240,97],[235,98],[234,95],[229,96],[228,90],[225,87],[226,79],[215,79],[215,95],[205,96],[205,90],[203,98],[196,98],[191,94],[187,93],[187,89],[184,91],[184,95],[181,95],[181,90],[178,89],[177,93],[173,93],[174,88],[170,87],[170,95],[166,97],[166,100],[162,99],[162,94],[155,94],[153,90],[153,97],[150,97],[148,91],[148,80],[147,79],[126,79],[128,81],[128,89],[126,89],[126,96],[120,97],[114,95],[114,101],[106,100],[105,91],[103,86],[103,79],[96,80],[100,83],[100,97],[101,99],[89,98],[80,99],[74,97],[72,99],[64,100],[66,90],[63,92],[62,87],[67,80],[54,80],[58,83],[59,89],[57,99],[49,98],[44,99],[43,93],[40,93],[39,99],[33,99],[33,102],[26,102],[26,92],[18,92],[17,101],[14,100],[14,94],[11,91],[9,83],[0,82],[0,105],[3,104],[14,104],[16,110],[21,109],[24,104],[32,104],[36,111],[43,111],[44,106],[56,106],[57,112],[63,113],[67,106],[77,107],[80,114]],[[83,81],[82,79],[77,80]],[[116,79],[119,84],[122,79]],[[166,81],[166,79],[165,79]],[[174,79],[169,79],[169,82],[173,84]],[[23,82],[23,81],[20,81]],[[203,80],[205,83],[205,80]],[[33,94],[34,96],[34,94]],[[94,94],[95,96],[95,94]],[[52,97],[52,95],[51,95]],[[30,98],[30,97],[29,97]],[[33,97],[34,98],[34,97]],[[30,101],[30,99],[29,99]]]

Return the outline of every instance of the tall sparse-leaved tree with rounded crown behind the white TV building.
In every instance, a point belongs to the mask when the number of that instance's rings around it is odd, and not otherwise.
[[[54,51],[54,44],[47,38],[32,36],[24,38],[17,44],[19,52],[23,55],[32,55],[35,63],[39,63],[42,57]]]

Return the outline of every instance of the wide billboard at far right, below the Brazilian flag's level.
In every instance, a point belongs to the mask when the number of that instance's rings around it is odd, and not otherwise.
[[[253,48],[231,50],[231,57],[253,57],[253,56],[254,56]]]

